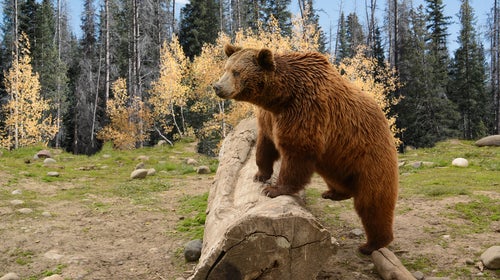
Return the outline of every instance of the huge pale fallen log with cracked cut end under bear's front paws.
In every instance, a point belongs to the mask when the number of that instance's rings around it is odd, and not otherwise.
[[[256,127],[255,119],[244,120],[223,143],[190,279],[315,279],[336,252],[299,196],[261,194],[253,181]]]

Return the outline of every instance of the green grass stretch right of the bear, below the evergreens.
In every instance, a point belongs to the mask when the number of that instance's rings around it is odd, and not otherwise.
[[[457,157],[466,158],[469,167],[452,166],[451,162]],[[400,154],[399,159],[407,163],[400,168],[402,197],[440,198],[500,188],[500,149],[497,147],[480,148],[470,141],[453,140]],[[415,161],[434,165],[414,168],[408,164]]]

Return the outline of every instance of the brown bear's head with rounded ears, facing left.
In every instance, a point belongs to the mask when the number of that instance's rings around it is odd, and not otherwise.
[[[228,60],[224,74],[214,84],[215,93],[225,99],[247,101],[254,104],[269,86],[276,68],[274,55],[269,49],[224,46]]]

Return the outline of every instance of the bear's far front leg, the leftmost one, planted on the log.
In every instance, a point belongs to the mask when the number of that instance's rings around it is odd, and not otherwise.
[[[256,182],[266,182],[273,175],[274,162],[278,160],[280,154],[273,141],[259,133],[257,137],[257,151],[255,154],[259,171],[254,176]]]

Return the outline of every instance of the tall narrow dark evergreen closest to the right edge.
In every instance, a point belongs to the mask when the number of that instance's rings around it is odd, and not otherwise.
[[[468,0],[462,0],[459,20],[459,47],[452,62],[450,99],[461,115],[459,128],[464,139],[476,139],[487,134],[491,116],[486,94],[484,50],[474,29],[474,12]]]

